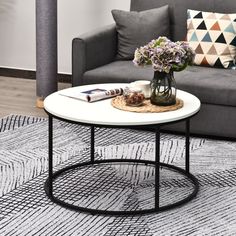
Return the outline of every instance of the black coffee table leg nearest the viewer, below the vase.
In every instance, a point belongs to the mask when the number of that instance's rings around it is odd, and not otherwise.
[[[160,127],[155,130],[155,209],[159,209],[160,201]]]

